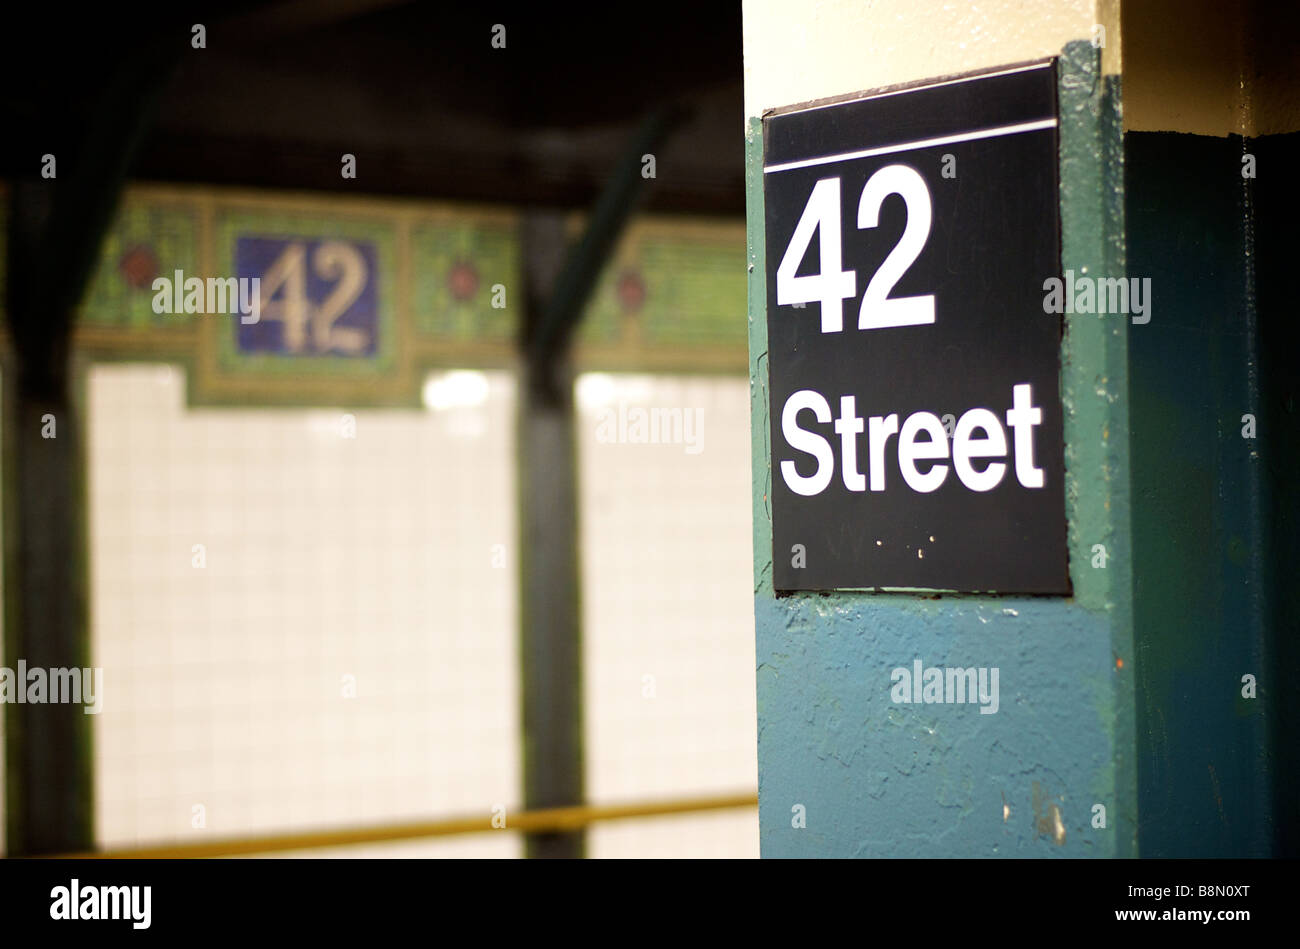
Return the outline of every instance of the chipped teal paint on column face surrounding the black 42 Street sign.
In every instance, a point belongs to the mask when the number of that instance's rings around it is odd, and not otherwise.
[[[1118,82],[1060,61],[1062,268],[1124,273]],[[759,822],[764,857],[1136,853],[1128,328],[1067,315],[1061,350],[1074,595],[772,588],[763,142],[746,129]],[[1104,545],[1106,566],[1093,567]],[[997,667],[1000,707],[894,705],[890,670]],[[1093,806],[1106,826],[1093,827]]]

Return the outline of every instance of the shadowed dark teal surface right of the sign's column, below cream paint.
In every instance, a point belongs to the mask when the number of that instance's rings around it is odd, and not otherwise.
[[[1296,853],[1297,146],[1124,135],[1128,269],[1158,302],[1130,339],[1147,857]]]

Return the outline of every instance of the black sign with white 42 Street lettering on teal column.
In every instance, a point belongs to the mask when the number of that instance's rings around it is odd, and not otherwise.
[[[1054,64],[763,143],[776,589],[1069,593]]]

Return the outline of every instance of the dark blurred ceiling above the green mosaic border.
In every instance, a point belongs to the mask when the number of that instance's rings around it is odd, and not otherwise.
[[[642,121],[680,107],[647,207],[744,213],[738,3],[26,5],[6,18],[4,177],[34,174],[47,152],[94,160],[104,88],[144,69],[161,95],[134,179],[586,207]],[[343,153],[356,181],[339,174]]]

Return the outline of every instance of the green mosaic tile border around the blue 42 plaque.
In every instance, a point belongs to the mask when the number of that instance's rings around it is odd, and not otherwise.
[[[0,220],[3,198],[0,191]],[[519,225],[512,208],[134,186],[79,308],[77,347],[90,360],[181,364],[195,406],[417,406],[429,369],[516,364]],[[575,239],[581,226],[575,214]],[[238,316],[153,313],[155,277],[237,277],[240,237],[338,238],[373,248],[374,354],[243,352]],[[598,281],[576,365],[744,372],[744,248],[740,220],[634,220]],[[0,228],[0,261],[3,252]],[[0,263],[0,300],[3,287]]]

